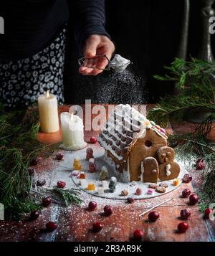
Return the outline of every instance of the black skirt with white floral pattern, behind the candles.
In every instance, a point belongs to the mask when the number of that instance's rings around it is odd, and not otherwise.
[[[66,27],[48,47],[24,60],[0,63],[0,101],[5,107],[32,105],[46,90],[64,103]]]

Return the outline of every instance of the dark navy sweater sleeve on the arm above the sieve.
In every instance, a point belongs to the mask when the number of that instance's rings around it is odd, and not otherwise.
[[[72,19],[80,52],[85,40],[91,34],[101,34],[110,38],[105,31],[105,0],[75,0],[74,4],[72,4]]]

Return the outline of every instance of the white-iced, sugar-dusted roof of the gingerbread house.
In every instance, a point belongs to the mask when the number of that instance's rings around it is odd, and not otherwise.
[[[145,115],[128,104],[120,104],[110,114],[108,122],[100,132],[98,141],[119,162],[125,162],[135,141],[145,137],[146,129],[152,129],[158,136],[167,138],[165,130],[153,121],[149,121]]]

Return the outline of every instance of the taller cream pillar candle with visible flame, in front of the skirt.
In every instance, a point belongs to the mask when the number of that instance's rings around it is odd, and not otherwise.
[[[39,96],[38,105],[41,131],[43,133],[59,131],[57,98],[53,94],[49,94],[49,90],[47,90],[45,95]]]

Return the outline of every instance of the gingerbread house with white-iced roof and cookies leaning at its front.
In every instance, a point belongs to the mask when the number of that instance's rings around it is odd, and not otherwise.
[[[180,172],[166,131],[130,105],[115,107],[98,141],[124,181],[157,183],[175,179]]]

